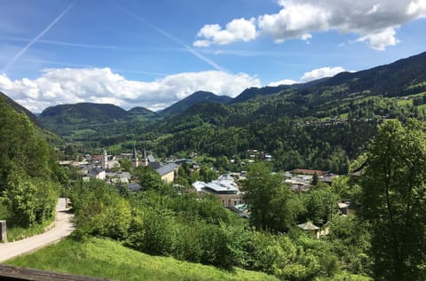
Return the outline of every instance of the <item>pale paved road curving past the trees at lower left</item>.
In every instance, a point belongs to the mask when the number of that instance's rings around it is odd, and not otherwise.
[[[60,198],[56,207],[55,226],[51,230],[20,241],[0,243],[0,262],[9,260],[20,254],[32,252],[71,234],[74,230],[71,222],[73,215],[67,213],[67,210],[65,199]]]

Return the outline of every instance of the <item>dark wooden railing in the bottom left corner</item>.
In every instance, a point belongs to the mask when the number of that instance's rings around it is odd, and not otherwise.
[[[45,271],[39,269],[23,269],[9,265],[0,264],[0,280],[6,281],[106,281],[111,279],[98,278],[98,277],[83,277],[71,274]]]

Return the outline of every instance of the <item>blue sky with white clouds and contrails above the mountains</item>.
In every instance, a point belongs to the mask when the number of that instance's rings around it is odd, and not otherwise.
[[[0,0],[0,91],[161,110],[426,51],[426,0]]]

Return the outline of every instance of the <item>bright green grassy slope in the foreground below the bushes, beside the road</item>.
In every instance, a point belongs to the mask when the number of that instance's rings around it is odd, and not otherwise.
[[[274,280],[264,273],[234,269],[232,272],[198,263],[177,261],[170,257],[142,254],[119,242],[89,238],[77,242],[66,238],[58,244],[13,260],[6,264],[75,275],[106,277],[118,280]]]

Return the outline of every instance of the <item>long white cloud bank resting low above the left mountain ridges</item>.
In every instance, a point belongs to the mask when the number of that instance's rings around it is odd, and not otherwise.
[[[47,106],[78,102],[159,110],[196,90],[235,97],[248,87],[258,86],[256,77],[221,71],[172,74],[151,82],[127,80],[110,68],[52,68],[34,80],[12,81],[0,74],[0,90],[34,113]]]

